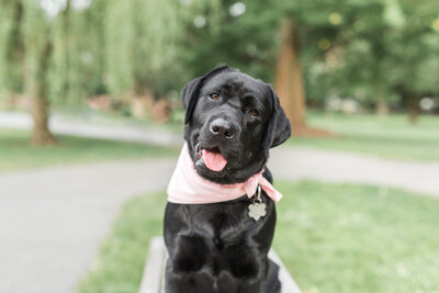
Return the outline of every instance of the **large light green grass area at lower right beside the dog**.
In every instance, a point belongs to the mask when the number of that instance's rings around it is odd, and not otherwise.
[[[439,292],[439,200],[282,183],[274,247],[304,290]]]

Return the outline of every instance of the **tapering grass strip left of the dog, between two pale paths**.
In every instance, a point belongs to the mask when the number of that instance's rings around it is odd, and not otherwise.
[[[57,136],[59,145],[33,147],[30,132],[0,129],[0,171],[127,158],[177,156],[179,150],[164,147]]]

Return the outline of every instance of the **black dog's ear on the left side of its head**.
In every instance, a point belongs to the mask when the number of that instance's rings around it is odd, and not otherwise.
[[[195,109],[200,95],[200,90],[203,87],[204,82],[225,70],[232,70],[232,68],[229,68],[227,65],[217,67],[209,71],[204,76],[191,80],[188,84],[183,87],[180,97],[185,110],[184,124],[188,124],[192,117],[192,112]]]

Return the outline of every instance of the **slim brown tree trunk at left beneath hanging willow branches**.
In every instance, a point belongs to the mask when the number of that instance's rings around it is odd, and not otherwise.
[[[46,78],[48,71],[48,61],[52,53],[52,41],[47,40],[44,48],[37,54],[35,74],[32,75],[31,97],[32,97],[32,117],[34,128],[32,134],[33,145],[53,145],[55,137],[48,128],[48,109]]]

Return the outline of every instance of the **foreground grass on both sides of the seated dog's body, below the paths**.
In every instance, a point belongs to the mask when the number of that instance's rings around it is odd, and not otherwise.
[[[307,292],[439,292],[439,200],[399,190],[279,182],[274,247]],[[166,194],[125,204],[79,293],[137,292]]]

